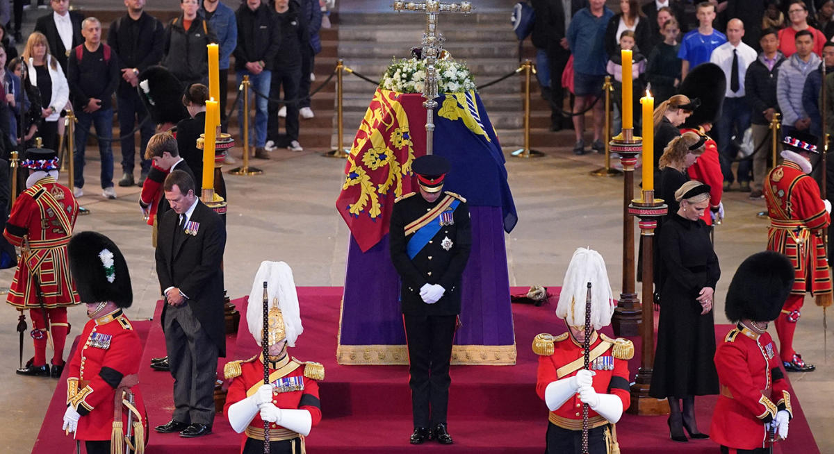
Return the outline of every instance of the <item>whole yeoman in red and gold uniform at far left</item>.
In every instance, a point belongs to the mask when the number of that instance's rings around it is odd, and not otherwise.
[[[56,181],[58,155],[53,150],[29,148],[20,165],[29,169],[27,188],[14,201],[3,236],[22,248],[23,258],[6,302],[18,311],[29,309],[35,355],[18,374],[58,378],[69,332],[67,307],[78,304],[67,261],[78,202],[68,187]],[[46,358],[49,331],[54,349],[51,370]]]

